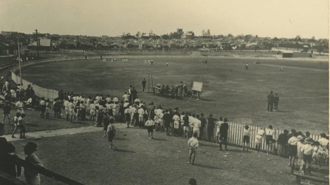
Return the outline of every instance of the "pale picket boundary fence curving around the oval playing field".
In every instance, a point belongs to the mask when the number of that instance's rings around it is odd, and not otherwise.
[[[117,56],[103,56],[103,59],[105,58],[130,58],[132,56],[122,56],[122,57],[117,57]],[[141,57],[141,56],[139,56]],[[46,63],[53,63],[53,62],[67,62],[67,61],[74,61],[74,60],[84,60],[85,57],[66,57],[66,58],[56,58],[56,59],[45,59],[45,60],[36,60],[36,61],[30,61],[30,62],[26,62],[26,63],[22,63],[21,64],[21,68],[26,68],[29,66],[34,66],[34,65],[40,65],[40,64],[46,64]],[[93,57],[88,57],[88,59],[99,59],[100,57],[97,56],[93,56]],[[14,67],[11,73],[12,76],[12,80],[16,83],[16,84],[20,84],[21,83],[21,79],[19,78],[19,76],[16,75],[16,73],[19,72],[19,68],[18,66]],[[31,85],[36,93],[37,96],[39,97],[45,97],[51,101],[53,101],[54,98],[58,97],[58,91],[57,90],[53,90],[53,89],[47,89],[47,88],[43,88],[40,87],[32,82],[26,81],[24,79],[22,79],[22,85],[23,88],[26,89],[27,85]],[[242,146],[243,145],[243,130],[244,130],[244,124],[237,124],[237,123],[232,123],[229,122],[229,130],[228,130],[228,144],[229,145],[234,145],[234,146]],[[255,148],[255,137],[257,135],[257,131],[258,129],[262,129],[266,126],[260,127],[260,126],[254,126],[254,125],[249,125],[250,127],[250,143],[249,143],[249,147]],[[204,128],[204,133],[203,134],[203,140],[206,140],[207,138],[207,133],[206,133],[206,126]],[[216,127],[214,128],[214,133],[213,133],[213,137],[212,137],[212,141],[215,141],[216,137]],[[278,136],[283,133],[283,130],[280,129],[274,129],[275,134],[274,134],[274,139],[277,140]],[[311,138],[314,140],[318,140],[319,139],[319,135],[316,134],[311,134]],[[261,151],[265,151],[266,150],[266,142],[265,139],[262,139],[262,144],[261,144]],[[270,151],[276,151],[277,149],[277,143],[273,144],[272,147],[269,149]]]

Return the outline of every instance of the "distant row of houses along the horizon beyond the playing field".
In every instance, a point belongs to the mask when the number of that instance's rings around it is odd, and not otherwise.
[[[55,49],[200,49],[200,48],[219,48],[219,49],[237,49],[242,46],[249,49],[250,46],[260,45],[259,43],[246,44],[237,40],[189,40],[189,39],[173,39],[173,40],[128,40],[110,39],[110,40],[78,40],[78,39],[61,39],[52,41],[50,39],[40,39],[40,50]],[[27,46],[27,49],[37,49],[37,42],[33,42]],[[250,48],[254,49],[254,48]]]

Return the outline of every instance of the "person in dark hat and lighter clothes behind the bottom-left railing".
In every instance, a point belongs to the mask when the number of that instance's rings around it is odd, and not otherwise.
[[[29,141],[24,146],[24,153],[26,155],[25,161],[29,164],[44,167],[44,165],[40,162],[39,158],[34,154],[37,151],[37,144]],[[24,167],[24,176],[26,182],[32,185],[40,184],[40,176],[35,167]]]

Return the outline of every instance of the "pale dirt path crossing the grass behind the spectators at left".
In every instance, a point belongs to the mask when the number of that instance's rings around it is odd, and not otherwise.
[[[126,128],[125,123],[117,123],[115,124],[116,129]],[[102,127],[88,126],[88,127],[78,127],[78,128],[67,128],[67,129],[58,129],[58,130],[44,130],[37,132],[27,132],[26,139],[36,139],[43,137],[54,137],[54,136],[62,136],[62,135],[72,135],[79,133],[87,133],[87,132],[97,132],[102,131]],[[18,134],[15,134],[18,137]],[[12,138],[11,135],[3,135],[1,137],[5,137],[7,141],[18,141],[25,140],[19,138]]]

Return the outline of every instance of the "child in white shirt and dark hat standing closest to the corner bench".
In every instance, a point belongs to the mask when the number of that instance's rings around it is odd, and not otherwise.
[[[313,144],[313,139],[308,137],[305,139],[305,145],[302,146],[302,149],[301,149],[301,152],[304,153],[304,157],[303,157],[303,160],[304,160],[304,165],[303,165],[303,171],[302,173],[303,174],[311,174],[311,165],[312,165],[312,155],[313,155],[313,149],[314,147],[312,146]],[[306,166],[307,166],[307,169],[308,169],[308,173],[306,171]]]

